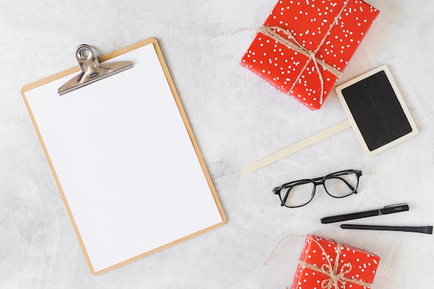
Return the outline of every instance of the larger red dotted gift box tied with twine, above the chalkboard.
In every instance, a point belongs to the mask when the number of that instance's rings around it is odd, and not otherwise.
[[[241,64],[318,110],[377,15],[360,0],[281,0]]]

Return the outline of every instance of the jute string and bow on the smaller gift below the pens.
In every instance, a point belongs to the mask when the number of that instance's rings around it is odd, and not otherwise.
[[[331,289],[331,288],[340,289],[339,283],[342,283],[342,288],[345,289],[346,288],[345,285],[347,282],[354,283],[354,284],[368,287],[368,288],[370,288],[372,286],[372,283],[367,283],[367,282],[359,281],[356,279],[349,279],[349,278],[345,277],[345,274],[348,274],[353,269],[351,263],[342,264],[342,267],[340,268],[340,270],[338,272],[338,265],[339,265],[340,252],[342,250],[342,244],[336,240],[333,240],[333,242],[336,243],[336,259],[335,259],[335,262],[333,265],[331,264],[331,260],[330,260],[329,256],[327,256],[327,253],[325,252],[324,247],[322,247],[322,245],[318,242],[318,240],[315,240],[315,238],[311,238],[308,236],[302,236],[302,235],[288,235],[288,236],[285,236],[284,238],[281,238],[281,240],[279,240],[279,242],[276,244],[275,249],[272,250],[267,261],[265,263],[263,263],[263,265],[266,265],[266,263],[268,263],[268,261],[270,261],[272,255],[275,253],[275,251],[277,249],[277,246],[288,237],[307,238],[307,239],[315,242],[315,244],[318,245],[318,247],[320,247],[320,249],[322,251],[322,255],[325,257],[327,263],[322,264],[321,267],[317,267],[315,265],[304,262],[302,259],[299,259],[298,262],[300,263],[300,265],[302,265],[306,268],[309,268],[311,270],[315,270],[317,272],[321,272],[321,273],[329,276],[329,278],[322,280],[322,282],[321,282],[322,288],[324,288],[324,289]]]

